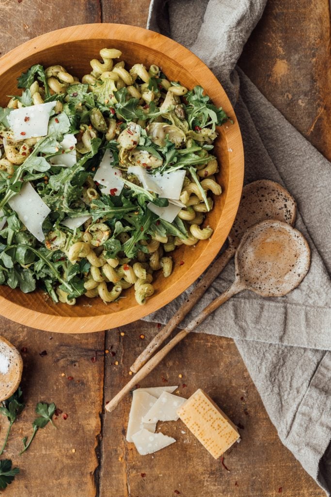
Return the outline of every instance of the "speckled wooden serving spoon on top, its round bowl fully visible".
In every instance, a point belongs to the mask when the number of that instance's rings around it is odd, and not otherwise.
[[[310,249],[304,236],[283,221],[263,221],[252,226],[242,237],[235,256],[236,278],[224,293],[214,299],[157,352],[129,383],[107,405],[108,411],[152,371],[167,353],[192,330],[197,328],[230,297],[242,290],[251,290],[263,297],[280,297],[296,288],[310,266]]]

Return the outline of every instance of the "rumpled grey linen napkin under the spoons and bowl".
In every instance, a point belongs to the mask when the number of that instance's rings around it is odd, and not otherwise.
[[[152,0],[148,27],[190,48],[222,83],[241,127],[245,182],[278,181],[297,201],[296,227],[312,251],[311,268],[301,285],[281,298],[242,292],[197,331],[235,339],[283,444],[330,496],[331,168],[236,66],[265,3]],[[230,263],[182,326],[233,279]],[[167,322],[185,299],[183,294],[146,319]]]

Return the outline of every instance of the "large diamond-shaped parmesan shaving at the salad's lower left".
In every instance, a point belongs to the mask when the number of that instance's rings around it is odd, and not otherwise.
[[[45,204],[29,181],[24,183],[17,195],[8,200],[8,204],[17,213],[29,232],[39,242],[43,242],[45,236],[42,226],[51,209]]]

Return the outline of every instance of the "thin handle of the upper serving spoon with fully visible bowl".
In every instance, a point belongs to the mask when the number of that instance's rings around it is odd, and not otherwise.
[[[219,297],[213,300],[200,314],[194,318],[185,330],[177,333],[174,338],[172,338],[161,350],[159,350],[149,361],[142,366],[140,371],[137,372],[136,375],[126,384],[124,388],[110,401],[106,404],[107,411],[113,411],[116,406],[121,402],[121,400],[132,390],[132,388],[143,380],[148,373],[150,373],[168,354],[168,352],[174,348],[177,343],[179,343],[186,335],[190,333],[190,331],[194,330],[202,321],[209,316],[215,309],[221,306],[224,302],[229,300],[230,297],[240,292],[243,289],[243,286],[239,283],[238,280],[235,280],[234,283],[228,288],[224,293],[222,293]]]

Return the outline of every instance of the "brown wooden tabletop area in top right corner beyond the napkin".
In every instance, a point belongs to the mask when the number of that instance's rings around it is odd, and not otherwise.
[[[269,0],[239,65],[266,98],[331,159],[329,0]]]

